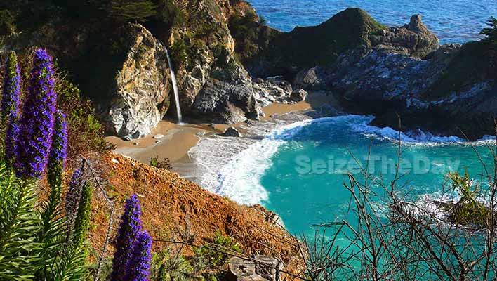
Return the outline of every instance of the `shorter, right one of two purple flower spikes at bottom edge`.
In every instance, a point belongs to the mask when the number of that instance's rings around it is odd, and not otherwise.
[[[133,246],[133,256],[128,265],[129,281],[147,281],[150,273],[150,259],[152,254],[152,237],[147,231],[143,231],[138,236]]]

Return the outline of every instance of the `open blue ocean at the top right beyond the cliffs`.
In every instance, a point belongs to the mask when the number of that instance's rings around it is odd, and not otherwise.
[[[497,17],[494,0],[249,0],[267,24],[281,31],[296,26],[319,25],[345,8],[362,8],[378,22],[404,25],[420,13],[442,44],[479,38],[478,32],[491,15]]]

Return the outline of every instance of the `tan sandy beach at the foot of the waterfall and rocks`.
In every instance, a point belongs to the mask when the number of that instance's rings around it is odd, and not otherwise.
[[[338,107],[337,100],[324,93],[310,93],[307,100],[299,103],[272,103],[263,107],[267,120],[274,115],[283,115],[289,112],[299,112],[312,110],[322,105],[331,105]],[[185,164],[190,161],[188,150],[197,145],[199,136],[208,134],[223,133],[228,127],[234,126],[240,129],[239,124],[176,124],[175,120],[164,119],[159,125],[152,130],[152,133],[145,138],[135,139],[133,141],[124,141],[117,136],[108,136],[106,139],[116,145],[114,152],[126,155],[139,162],[149,163],[152,157],[158,156],[160,159],[168,158],[173,164]],[[243,133],[243,129],[240,129]]]

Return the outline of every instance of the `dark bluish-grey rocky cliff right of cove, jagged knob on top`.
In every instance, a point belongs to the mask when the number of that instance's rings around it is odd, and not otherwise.
[[[325,67],[300,72],[295,84],[326,89],[378,126],[424,129],[481,138],[494,133],[496,44],[475,41],[438,46],[414,15],[404,27],[373,35],[371,48],[355,48]]]

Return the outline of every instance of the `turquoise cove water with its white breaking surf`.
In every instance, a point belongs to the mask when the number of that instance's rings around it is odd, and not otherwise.
[[[450,190],[442,195],[444,175],[468,172],[482,180],[484,166],[493,169],[489,146],[493,141],[464,143],[456,137],[400,134],[369,126],[373,117],[345,115],[307,120],[274,130],[232,158],[218,175],[216,192],[246,204],[263,204],[276,211],[291,233],[312,234],[313,225],[346,219],[350,193],[347,174],[360,179],[359,165],[390,183],[395,175],[401,140],[398,192],[406,200],[457,199]],[[371,152],[369,148],[371,147]],[[479,155],[479,157],[478,157]],[[443,197],[443,198],[442,198]],[[378,208],[382,209],[381,204]]]

